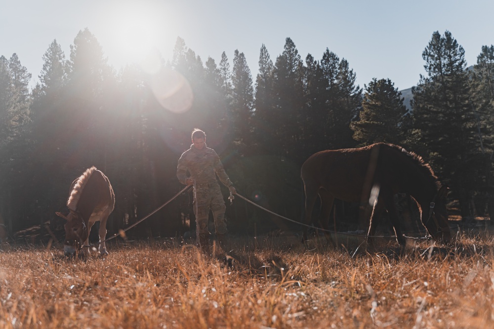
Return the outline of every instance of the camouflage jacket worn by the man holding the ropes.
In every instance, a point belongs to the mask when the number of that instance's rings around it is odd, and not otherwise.
[[[219,160],[218,154],[214,149],[204,146],[203,149],[197,149],[194,144],[188,150],[183,152],[178,160],[177,178],[182,184],[187,179],[187,170],[196,184],[214,183],[216,175],[225,186],[230,187],[233,183]]]

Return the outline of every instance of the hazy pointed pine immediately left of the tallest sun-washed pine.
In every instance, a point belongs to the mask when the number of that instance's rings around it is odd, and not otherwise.
[[[60,113],[67,112],[71,104],[65,101],[66,95],[69,94],[64,90],[67,82],[67,63],[65,55],[60,45],[53,40],[44,53],[43,68],[39,76],[40,82],[33,89],[33,103],[31,106],[31,129],[29,139],[33,143],[31,160],[36,166],[31,169],[33,178],[30,181],[34,194],[26,195],[26,199],[33,198],[39,207],[36,211],[36,218],[39,219],[41,229],[44,229],[44,223],[53,219],[52,209],[59,207],[62,193],[66,193],[67,178],[61,175],[59,161],[63,158],[57,154],[60,141],[65,137],[61,132],[67,124],[61,120],[63,115]],[[61,147],[65,149],[65,147]],[[54,165],[56,163],[56,165]],[[41,174],[42,173],[42,174]],[[55,178],[55,179],[54,179]],[[40,195],[39,191],[43,190]],[[62,192],[63,191],[63,192]],[[52,224],[56,226],[56,219]]]

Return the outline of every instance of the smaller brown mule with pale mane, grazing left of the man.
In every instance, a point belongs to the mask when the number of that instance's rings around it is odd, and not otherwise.
[[[70,187],[67,207],[69,214],[56,213],[65,223],[64,254],[76,256],[83,247],[89,255],[89,233],[96,221],[99,226],[99,254],[108,255],[105,246],[106,220],[115,206],[115,194],[108,178],[96,167],[87,169]]]

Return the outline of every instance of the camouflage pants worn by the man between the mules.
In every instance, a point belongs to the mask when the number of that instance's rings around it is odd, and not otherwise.
[[[216,234],[225,234],[227,232],[226,206],[219,184],[196,184],[194,186],[194,214],[196,215],[198,237],[199,234],[209,234],[207,229],[209,209],[213,213]]]

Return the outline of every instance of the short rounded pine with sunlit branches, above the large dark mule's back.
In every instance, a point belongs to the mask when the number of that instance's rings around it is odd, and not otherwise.
[[[353,138],[361,146],[377,142],[402,144],[403,119],[407,113],[403,100],[390,79],[373,78],[366,86],[360,120],[350,125]]]

